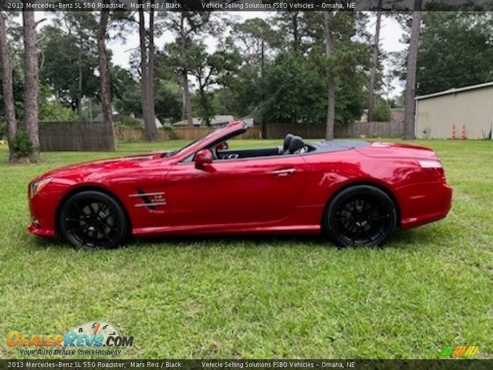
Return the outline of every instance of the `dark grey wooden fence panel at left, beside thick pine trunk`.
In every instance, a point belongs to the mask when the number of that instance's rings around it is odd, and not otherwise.
[[[112,127],[104,122],[40,122],[42,151],[115,151]]]

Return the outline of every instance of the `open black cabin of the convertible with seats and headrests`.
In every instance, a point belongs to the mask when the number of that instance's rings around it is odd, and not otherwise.
[[[210,147],[214,159],[236,159],[236,158],[252,158],[252,157],[268,157],[277,155],[295,155],[311,152],[315,150],[315,147],[306,144],[303,139],[297,135],[288,134],[284,138],[282,147],[268,147],[268,148],[256,148],[256,149],[236,149],[229,150],[223,149],[227,144],[224,142],[214,144]]]

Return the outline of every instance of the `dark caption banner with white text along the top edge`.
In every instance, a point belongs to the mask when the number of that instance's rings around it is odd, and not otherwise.
[[[378,0],[0,0],[4,11],[372,11]],[[383,11],[493,10],[491,0],[383,0]]]

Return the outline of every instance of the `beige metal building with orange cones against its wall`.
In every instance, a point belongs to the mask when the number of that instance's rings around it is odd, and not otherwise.
[[[417,96],[416,138],[491,139],[493,82]],[[455,128],[455,130],[454,130]]]

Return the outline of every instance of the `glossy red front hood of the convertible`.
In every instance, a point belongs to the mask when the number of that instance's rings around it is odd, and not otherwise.
[[[150,153],[137,156],[77,163],[48,171],[39,176],[38,179],[47,177],[70,177],[80,179],[81,177],[84,177],[87,180],[90,179],[91,176],[100,177],[99,174],[101,172],[108,174],[112,172],[119,173],[122,171],[147,168],[149,166],[161,163],[164,160],[163,156],[166,156],[166,153]]]

